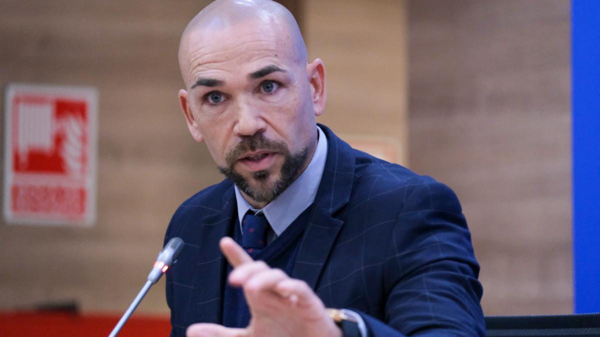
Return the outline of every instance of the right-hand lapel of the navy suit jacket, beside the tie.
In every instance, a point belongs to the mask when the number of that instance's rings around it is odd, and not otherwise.
[[[313,289],[343,225],[335,216],[350,200],[355,172],[352,148],[329,128],[319,127],[328,140],[327,160],[292,272],[293,278],[304,279]]]

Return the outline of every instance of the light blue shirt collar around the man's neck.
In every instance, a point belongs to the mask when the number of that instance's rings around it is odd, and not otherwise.
[[[285,191],[263,207],[263,209],[253,209],[248,201],[244,199],[241,192],[239,192],[238,186],[235,186],[235,198],[238,201],[240,226],[244,215],[251,209],[254,212],[264,213],[275,234],[280,236],[313,203],[314,198],[317,196],[317,189],[319,189],[327,159],[327,139],[325,133],[318,126],[317,132],[319,133],[319,141],[307,168],[292,182],[292,185],[288,186]]]

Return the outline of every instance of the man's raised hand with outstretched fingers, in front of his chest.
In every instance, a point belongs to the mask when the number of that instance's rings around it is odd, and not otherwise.
[[[323,302],[304,281],[292,279],[263,261],[254,261],[230,237],[221,239],[220,247],[233,266],[229,283],[244,289],[252,315],[250,325],[232,329],[218,324],[193,324],[187,330],[188,337],[341,336]]]

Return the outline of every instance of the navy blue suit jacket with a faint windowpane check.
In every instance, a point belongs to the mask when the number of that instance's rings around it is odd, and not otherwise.
[[[325,306],[359,312],[373,336],[485,335],[479,266],[454,192],[320,127],[327,161],[291,276]],[[229,179],[173,215],[165,242],[177,236],[185,246],[166,275],[172,336],[221,323],[227,261],[218,242],[236,216]]]

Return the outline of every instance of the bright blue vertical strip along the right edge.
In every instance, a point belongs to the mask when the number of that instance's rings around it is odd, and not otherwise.
[[[572,0],[575,312],[600,311],[600,1]]]

